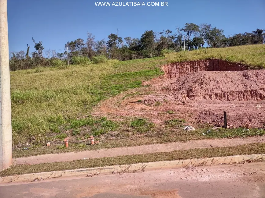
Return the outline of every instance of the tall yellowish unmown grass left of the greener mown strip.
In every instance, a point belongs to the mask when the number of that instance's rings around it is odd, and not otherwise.
[[[93,84],[112,71],[116,63],[109,60],[97,66],[75,65],[67,70],[10,72],[13,144],[42,143],[47,132],[58,133],[58,127],[66,120],[87,114],[102,98]]]

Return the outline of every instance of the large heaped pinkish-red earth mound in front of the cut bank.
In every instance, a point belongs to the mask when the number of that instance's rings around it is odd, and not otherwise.
[[[164,89],[178,101],[261,101],[265,100],[265,71],[193,72],[177,77]]]

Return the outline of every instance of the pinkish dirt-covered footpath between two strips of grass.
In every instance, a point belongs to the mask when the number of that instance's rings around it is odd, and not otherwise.
[[[60,154],[46,154],[39,156],[30,156],[24,158],[14,158],[15,164],[41,164],[47,162],[58,161],[72,161],[83,158],[100,158],[100,157],[115,157],[122,155],[147,154],[156,152],[169,152],[174,150],[188,150],[195,148],[210,148],[210,147],[229,147],[248,143],[263,143],[264,136],[254,136],[244,139],[205,139],[193,140],[187,142],[173,142],[166,144],[151,144],[136,147],[121,147],[112,149],[90,150],[77,153],[60,153]]]

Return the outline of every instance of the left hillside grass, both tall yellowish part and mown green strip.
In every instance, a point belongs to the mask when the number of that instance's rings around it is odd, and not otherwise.
[[[43,145],[50,140],[47,136],[75,124],[77,117],[87,115],[102,99],[161,75],[157,65],[163,59],[110,60],[97,65],[71,65],[64,70],[10,72],[13,145]],[[64,136],[59,134],[58,139]]]

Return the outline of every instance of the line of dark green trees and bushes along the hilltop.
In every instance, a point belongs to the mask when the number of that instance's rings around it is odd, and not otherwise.
[[[27,52],[19,51],[10,54],[10,70],[31,69],[38,66],[51,66],[54,59],[65,60],[67,51],[56,52],[43,47],[42,41],[34,43],[35,51],[29,55]],[[184,44],[185,43],[185,44]],[[252,32],[235,34],[230,37],[224,35],[224,30],[213,27],[211,24],[186,23],[183,27],[177,27],[175,33],[171,30],[154,32],[146,30],[140,38],[119,37],[117,32],[108,35],[108,40],[96,41],[95,35],[87,32],[86,40],[78,38],[68,41],[65,48],[68,48],[69,60],[72,57],[105,56],[120,61],[151,58],[165,53],[182,50],[196,50],[204,47],[224,48],[247,44],[265,43],[265,30],[256,29]]]

